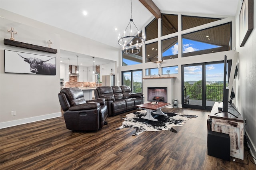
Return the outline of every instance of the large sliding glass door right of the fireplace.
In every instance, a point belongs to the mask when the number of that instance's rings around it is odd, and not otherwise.
[[[223,61],[182,65],[182,107],[212,109],[223,100],[223,77]]]

